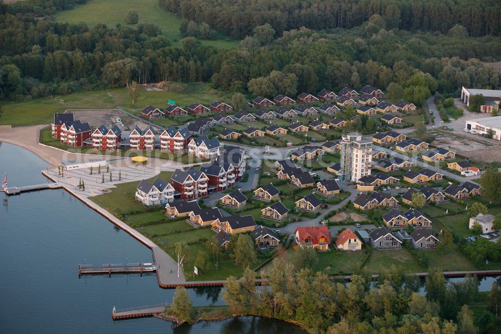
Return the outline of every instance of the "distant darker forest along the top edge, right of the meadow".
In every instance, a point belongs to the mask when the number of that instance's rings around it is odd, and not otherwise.
[[[160,7],[185,20],[205,22],[236,39],[270,23],[277,36],[307,27],[350,29],[374,14],[389,29],[447,33],[455,24],[470,36],[501,34],[501,3],[496,0],[158,0]]]

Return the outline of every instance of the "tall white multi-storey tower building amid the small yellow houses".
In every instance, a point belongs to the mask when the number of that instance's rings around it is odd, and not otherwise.
[[[372,140],[358,132],[343,135],[341,139],[341,182],[356,182],[371,174]]]

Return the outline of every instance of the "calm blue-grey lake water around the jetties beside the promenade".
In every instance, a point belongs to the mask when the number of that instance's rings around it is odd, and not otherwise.
[[[46,183],[47,164],[23,148],[0,143],[0,175],[10,186]],[[78,264],[152,261],[151,251],[64,190],[0,194],[1,333],[303,333],[261,317],[199,322],[172,329],[168,321],[113,321],[113,306],[170,302],[174,290],[156,275],[78,277]],[[218,288],[190,289],[194,305],[221,304]]]

